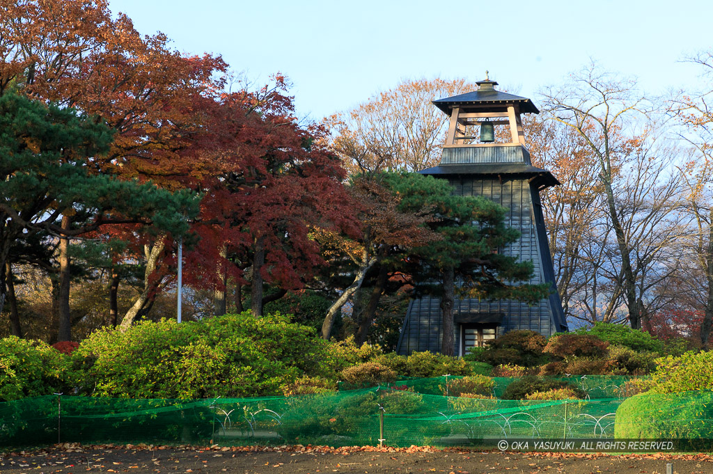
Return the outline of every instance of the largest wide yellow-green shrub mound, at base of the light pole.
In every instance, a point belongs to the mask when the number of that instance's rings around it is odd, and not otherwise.
[[[81,394],[119,398],[271,396],[302,376],[334,377],[328,343],[285,316],[250,312],[201,322],[96,331],[72,358]]]

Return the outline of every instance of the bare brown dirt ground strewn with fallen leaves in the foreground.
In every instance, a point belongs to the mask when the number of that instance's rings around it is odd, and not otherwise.
[[[315,473],[713,473],[704,454],[508,453],[411,448],[193,448],[57,445],[0,454],[2,474]]]

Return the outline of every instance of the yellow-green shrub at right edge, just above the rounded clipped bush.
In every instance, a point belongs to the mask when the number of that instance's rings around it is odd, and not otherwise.
[[[668,356],[657,359],[657,364],[651,373],[653,393],[713,390],[713,351]]]

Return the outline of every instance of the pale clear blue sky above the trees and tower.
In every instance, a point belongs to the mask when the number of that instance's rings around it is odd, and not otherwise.
[[[264,83],[293,83],[297,113],[319,120],[402,78],[485,76],[535,98],[594,58],[645,91],[694,88],[680,62],[713,48],[713,1],[110,0],[142,34],[220,54]]]

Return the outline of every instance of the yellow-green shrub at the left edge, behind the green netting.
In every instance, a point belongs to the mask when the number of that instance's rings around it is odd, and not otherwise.
[[[0,402],[67,393],[66,356],[42,341],[0,339]]]

